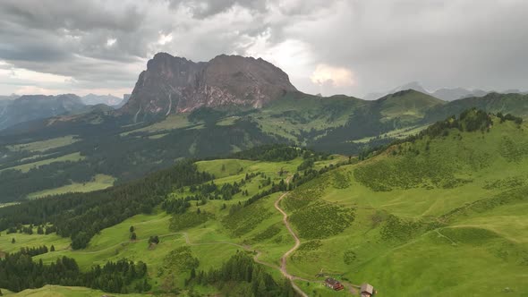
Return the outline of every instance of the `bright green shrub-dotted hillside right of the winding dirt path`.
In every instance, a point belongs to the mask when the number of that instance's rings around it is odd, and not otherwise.
[[[328,181],[345,181],[340,187],[318,182],[295,190],[317,195],[286,198],[294,224],[321,201],[355,209],[355,219],[336,235],[306,233],[308,251],[294,254],[293,271],[343,274],[390,296],[528,293],[528,126],[499,122],[493,119],[490,132],[451,129],[391,147],[328,174]],[[328,224],[336,214],[328,213]],[[305,224],[295,227],[302,236]]]

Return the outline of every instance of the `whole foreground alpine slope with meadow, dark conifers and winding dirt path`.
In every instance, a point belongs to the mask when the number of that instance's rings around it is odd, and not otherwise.
[[[363,283],[379,295],[521,294],[527,128],[470,109],[361,157],[272,145],[0,208],[1,271],[75,263],[50,283],[8,273],[1,285],[21,296],[346,296]],[[139,188],[148,189],[141,199],[127,194]],[[84,283],[123,260],[147,272]],[[345,289],[328,289],[328,277]]]

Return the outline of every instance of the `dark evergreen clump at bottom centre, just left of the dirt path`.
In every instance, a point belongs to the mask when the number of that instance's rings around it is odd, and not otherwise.
[[[238,288],[243,291],[243,296],[297,296],[289,281],[285,279],[282,284],[277,284],[271,275],[241,251],[234,254],[217,270],[195,272],[192,269],[191,278],[186,281],[187,284],[209,284],[219,287],[230,282],[245,284],[243,288]]]

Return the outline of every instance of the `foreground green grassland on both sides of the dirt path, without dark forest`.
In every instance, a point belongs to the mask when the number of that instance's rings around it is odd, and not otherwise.
[[[141,260],[155,292],[226,293],[192,271],[218,269],[238,250],[310,296],[357,293],[365,282],[378,296],[524,296],[527,144],[528,124],[468,110],[362,161],[278,147],[243,152],[198,162],[212,181],[173,188],[150,213],[106,227],[86,249],[72,250],[55,233],[4,231],[0,250],[54,244],[34,260],[67,256],[81,270]],[[180,208],[179,199],[190,203]],[[321,286],[326,276],[346,290]],[[233,284],[243,292],[243,282]]]

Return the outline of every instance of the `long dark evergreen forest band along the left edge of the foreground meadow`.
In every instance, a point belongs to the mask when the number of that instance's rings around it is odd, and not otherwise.
[[[16,225],[51,223],[57,234],[72,238],[72,248],[85,248],[93,235],[140,213],[149,213],[167,193],[212,176],[191,161],[104,191],[71,193],[0,208],[0,230]]]

